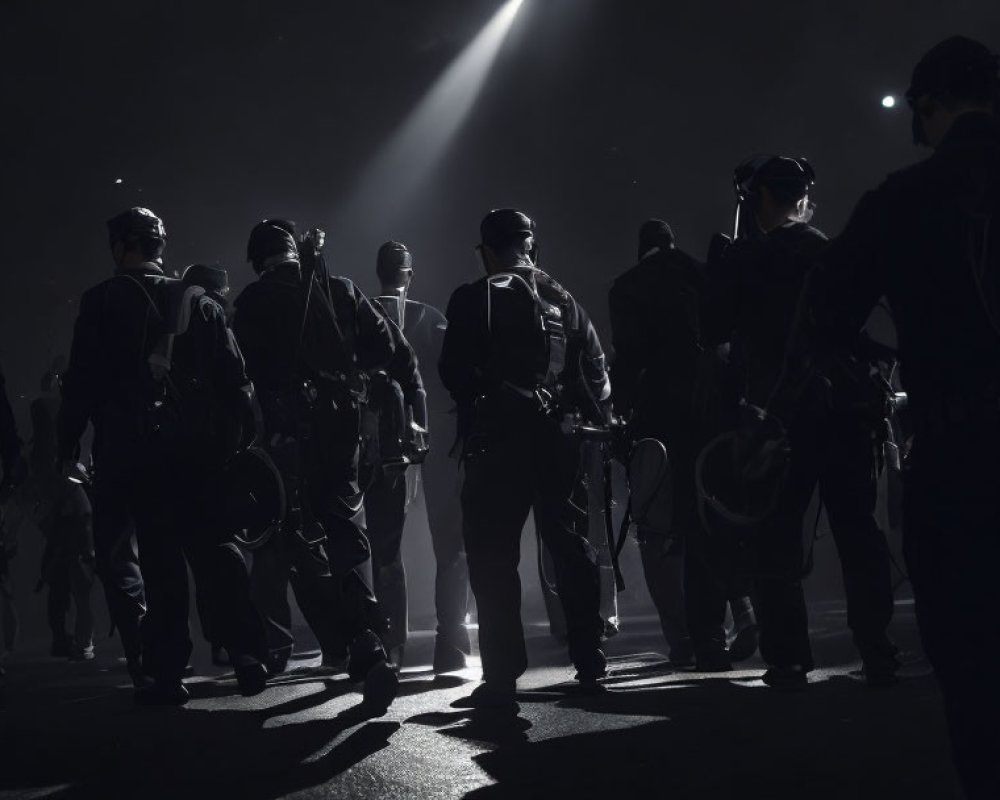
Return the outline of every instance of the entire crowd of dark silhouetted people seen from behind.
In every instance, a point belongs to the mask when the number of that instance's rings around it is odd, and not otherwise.
[[[610,486],[605,508],[594,489],[617,459],[676,666],[724,672],[759,644],[767,685],[808,685],[802,581],[818,492],[865,678],[891,687],[893,587],[875,505],[880,471],[902,469],[906,563],[956,763],[970,797],[1000,796],[997,59],[946,40],[907,97],[933,155],[867,193],[832,241],[809,224],[812,167],[782,155],[737,168],[733,234],[713,239],[706,263],[667,223],[645,222],[638,263],[609,295],[610,375],[588,314],[539,268],[535,223],[517,210],[483,219],[486,275],[445,314],[408,297],[403,244],[379,250],[381,294],[369,299],[328,273],[321,231],[281,219],[251,231],[258,280],[230,309],[224,270],[167,277],[152,212],[115,217],[114,275],[83,296],[68,364],[32,405],[30,458],[0,405],[8,517],[30,509],[47,537],[53,654],[93,657],[96,574],[136,700],[183,703],[189,565],[213,657],[244,694],[287,667],[290,584],[324,666],[383,711],[404,658],[400,545],[419,470],[435,672],[466,665],[471,585],[483,682],[467,704],[516,710],[518,560],[533,512],[576,679],[596,688],[613,624],[589,521],[610,517]],[[880,299],[893,349],[865,333]]]

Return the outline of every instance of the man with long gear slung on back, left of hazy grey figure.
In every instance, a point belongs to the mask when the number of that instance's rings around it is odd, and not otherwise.
[[[289,505],[280,535],[255,553],[256,596],[279,667],[292,648],[290,577],[325,654],[349,643],[351,677],[383,681],[385,652],[372,632],[379,611],[360,572],[369,548],[360,525],[358,401],[361,374],[391,361],[392,335],[349,280],[302,279],[292,230],[264,221],[251,232],[247,255],[261,277],[237,298],[233,318]],[[387,705],[395,677],[388,683],[388,695],[369,698],[366,682],[366,698]]]

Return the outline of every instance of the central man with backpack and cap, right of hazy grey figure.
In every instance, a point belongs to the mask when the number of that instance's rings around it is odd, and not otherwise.
[[[534,264],[534,228],[513,209],[483,219],[487,275],[452,294],[440,362],[459,410],[462,527],[479,610],[484,682],[469,702],[503,709],[515,706],[527,668],[517,563],[531,510],[555,565],[577,679],[606,671],[581,447],[564,423],[574,411],[606,422],[611,392],[586,312]]]

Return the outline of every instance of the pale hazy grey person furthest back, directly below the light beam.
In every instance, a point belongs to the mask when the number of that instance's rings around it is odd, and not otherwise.
[[[377,300],[413,347],[427,396],[431,447],[420,466],[420,478],[436,563],[437,637],[433,666],[438,673],[452,672],[465,667],[465,656],[470,650],[469,632],[465,627],[469,571],[462,541],[458,465],[450,454],[455,440],[455,414],[437,369],[447,320],[433,306],[409,298],[413,260],[405,245],[399,242],[383,244],[379,248],[375,271],[381,285]]]

